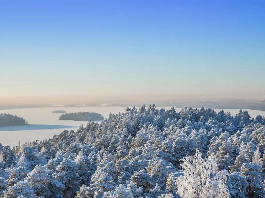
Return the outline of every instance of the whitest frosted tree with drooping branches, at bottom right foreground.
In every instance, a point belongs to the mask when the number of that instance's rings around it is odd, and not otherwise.
[[[177,178],[177,193],[182,198],[230,197],[226,187],[227,171],[219,171],[214,159],[203,159],[197,150],[184,158],[183,176]]]

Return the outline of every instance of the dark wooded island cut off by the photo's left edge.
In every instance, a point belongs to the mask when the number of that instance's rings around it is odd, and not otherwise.
[[[22,126],[28,122],[22,117],[18,117],[12,114],[0,114],[0,126]]]

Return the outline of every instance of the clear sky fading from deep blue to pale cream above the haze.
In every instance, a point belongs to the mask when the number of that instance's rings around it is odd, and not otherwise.
[[[264,95],[264,10],[242,0],[0,1],[0,94]]]

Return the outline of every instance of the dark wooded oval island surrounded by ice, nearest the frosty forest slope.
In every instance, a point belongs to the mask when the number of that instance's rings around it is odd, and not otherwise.
[[[78,112],[63,114],[60,116],[59,120],[101,121],[104,120],[104,117],[95,112]]]

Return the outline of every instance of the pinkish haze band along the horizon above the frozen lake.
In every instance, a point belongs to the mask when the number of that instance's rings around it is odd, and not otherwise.
[[[116,96],[0,96],[0,104],[7,105],[84,105],[88,103],[112,104],[112,103],[134,103],[134,102],[156,102],[156,101],[264,101],[265,95],[116,95]],[[136,103],[135,105],[137,105]]]

